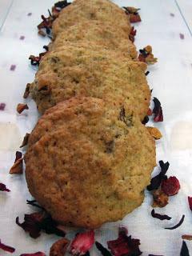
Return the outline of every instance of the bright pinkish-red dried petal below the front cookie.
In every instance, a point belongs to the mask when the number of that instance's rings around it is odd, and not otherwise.
[[[70,245],[70,254],[84,255],[94,244],[94,230],[77,234]]]

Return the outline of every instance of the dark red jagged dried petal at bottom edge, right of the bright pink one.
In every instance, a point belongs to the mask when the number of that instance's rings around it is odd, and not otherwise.
[[[107,242],[108,248],[114,256],[138,256],[142,252],[139,250],[139,239],[133,239],[127,236],[127,230],[120,228],[118,231],[118,238],[116,240]]]

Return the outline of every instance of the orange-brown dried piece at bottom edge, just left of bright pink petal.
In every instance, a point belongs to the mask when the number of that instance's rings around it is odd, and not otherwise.
[[[66,249],[69,246],[70,241],[66,238],[62,238],[50,247],[50,256],[63,256],[66,253]]]

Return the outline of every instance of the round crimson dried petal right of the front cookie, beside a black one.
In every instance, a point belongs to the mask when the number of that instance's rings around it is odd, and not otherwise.
[[[169,197],[174,194],[178,194],[179,189],[180,184],[175,176],[170,176],[170,178],[164,179],[162,181],[162,191]]]

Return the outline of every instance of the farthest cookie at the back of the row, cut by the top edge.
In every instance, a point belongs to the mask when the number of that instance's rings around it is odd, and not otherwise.
[[[108,0],[76,0],[64,8],[53,24],[54,38],[67,27],[84,21],[100,21],[130,34],[130,22],[124,10]]]

